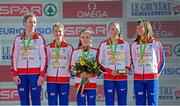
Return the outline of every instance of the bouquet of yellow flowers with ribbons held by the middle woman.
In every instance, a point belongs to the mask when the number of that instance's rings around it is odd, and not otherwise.
[[[73,69],[73,74],[81,74],[83,72],[86,72],[87,74],[98,74],[100,72],[100,67],[98,66],[96,60],[94,58],[87,58],[87,57],[81,57],[75,65],[72,66]],[[79,84],[76,94],[79,92],[81,89],[81,94],[84,91],[85,84],[89,83],[88,78],[83,78],[81,83]]]

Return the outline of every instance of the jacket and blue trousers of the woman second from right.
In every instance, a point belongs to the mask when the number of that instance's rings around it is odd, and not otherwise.
[[[112,53],[110,49],[111,40],[101,42],[97,59],[104,71],[104,93],[106,105],[114,105],[115,89],[118,95],[118,105],[126,105],[127,102],[127,74],[112,76],[111,72],[117,69],[130,70],[130,47],[128,42],[118,38],[118,45],[115,52],[117,59],[116,65],[112,62]],[[112,47],[114,48],[114,44]]]

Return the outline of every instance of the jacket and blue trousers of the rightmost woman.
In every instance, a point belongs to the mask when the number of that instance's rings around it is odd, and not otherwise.
[[[143,42],[145,44],[145,42]],[[134,90],[137,105],[158,104],[158,77],[164,67],[164,49],[157,40],[148,40],[144,62],[140,62],[140,41],[131,45],[131,56],[134,67]]]

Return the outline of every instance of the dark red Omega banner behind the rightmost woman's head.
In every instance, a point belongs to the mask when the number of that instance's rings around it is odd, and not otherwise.
[[[180,21],[150,21],[156,38],[179,38]],[[133,38],[136,36],[136,22],[127,23],[127,36]],[[134,30],[132,30],[134,29]]]

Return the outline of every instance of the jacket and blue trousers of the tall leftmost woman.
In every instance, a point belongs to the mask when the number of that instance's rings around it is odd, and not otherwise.
[[[18,92],[21,105],[29,105],[29,86],[33,105],[40,104],[41,86],[37,86],[37,79],[45,76],[46,52],[45,41],[42,35],[34,33],[29,44],[28,58],[23,57],[24,45],[23,39],[27,44],[29,38],[26,34],[15,37],[12,48],[12,70],[13,76],[19,76],[21,83],[18,84]]]

